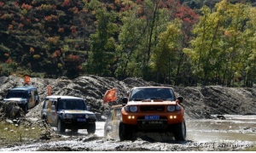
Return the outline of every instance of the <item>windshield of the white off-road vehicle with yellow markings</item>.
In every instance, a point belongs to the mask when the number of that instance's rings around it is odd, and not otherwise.
[[[87,107],[83,99],[60,99],[58,110],[81,110],[86,111]]]

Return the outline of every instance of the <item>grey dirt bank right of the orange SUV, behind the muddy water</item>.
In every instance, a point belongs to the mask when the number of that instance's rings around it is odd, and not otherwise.
[[[255,115],[256,88],[221,86],[175,88],[184,97],[188,116],[212,118],[212,115]]]

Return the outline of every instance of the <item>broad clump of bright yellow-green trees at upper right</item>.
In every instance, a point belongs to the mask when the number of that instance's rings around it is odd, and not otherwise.
[[[194,73],[197,79],[203,79],[203,85],[213,82],[230,87],[241,77],[242,65],[248,57],[245,38],[249,37],[244,35],[247,10],[245,4],[225,0],[216,4],[213,13],[206,6],[201,8],[201,20],[193,30],[192,48],[185,48],[184,53],[196,65]]]

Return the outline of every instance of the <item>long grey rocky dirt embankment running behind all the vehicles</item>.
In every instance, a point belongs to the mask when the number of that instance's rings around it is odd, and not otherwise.
[[[5,97],[9,88],[22,86],[23,83],[24,78],[0,77],[0,99]],[[32,77],[29,85],[38,88],[40,104],[23,117],[26,120],[32,119],[37,122],[40,121],[40,111],[47,94],[48,85],[52,86],[52,94],[73,95],[84,98],[88,105],[91,106],[92,111],[99,116],[98,121],[103,121],[104,117],[102,116],[106,114],[111,105],[120,104],[119,100],[117,100],[112,104],[103,105],[102,98],[108,89],[117,88],[118,99],[121,99],[132,87],[167,86],[154,82],[145,82],[139,78],[126,78],[119,81],[112,77],[96,76],[78,77],[73,80]],[[177,94],[183,96],[185,116],[189,120],[211,119],[212,115],[256,115],[256,88],[225,88],[221,86],[173,88]],[[3,106],[1,107],[0,105],[0,120],[4,117],[6,117],[6,113],[3,111]],[[60,136],[54,136],[51,139],[61,140]],[[56,150],[65,150],[65,147]]]

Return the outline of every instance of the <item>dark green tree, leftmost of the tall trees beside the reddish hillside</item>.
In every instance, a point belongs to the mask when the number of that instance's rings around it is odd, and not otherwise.
[[[116,20],[116,14],[108,12],[102,3],[91,1],[91,7],[96,11],[96,33],[90,36],[90,71],[92,74],[102,77],[113,77],[114,71],[111,71],[115,61],[115,40],[114,32],[117,26],[113,23]]]

